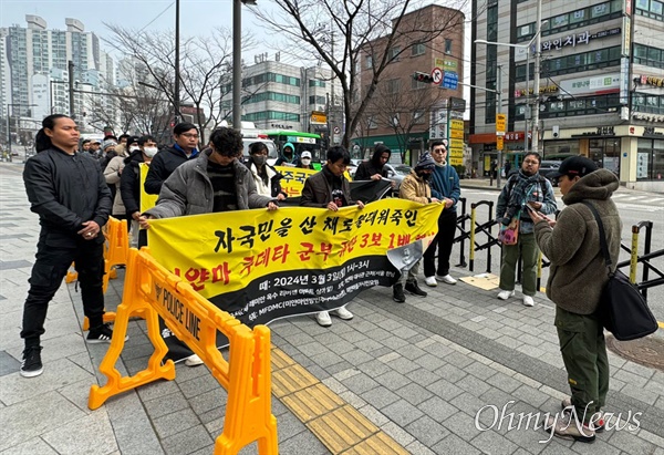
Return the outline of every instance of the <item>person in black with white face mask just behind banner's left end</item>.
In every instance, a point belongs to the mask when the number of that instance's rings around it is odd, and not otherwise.
[[[131,218],[133,236],[133,247],[147,246],[147,235],[145,230],[138,228],[138,218],[141,217],[141,163],[149,165],[152,158],[159,151],[157,139],[154,136],[143,136],[136,141],[136,145],[129,145],[129,156],[124,158],[124,170],[120,178],[120,195],[126,208],[127,217]]]

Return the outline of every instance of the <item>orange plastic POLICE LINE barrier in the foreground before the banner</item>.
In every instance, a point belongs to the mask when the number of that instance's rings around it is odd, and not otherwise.
[[[100,365],[108,381],[102,387],[91,387],[87,406],[95,410],[111,396],[159,379],[175,379],[173,361],[162,365],[167,348],[159,333],[160,316],[228,391],[224,432],[216,440],[215,454],[237,454],[255,441],[260,454],[277,454],[277,418],[271,412],[270,395],[270,330],[264,325],[251,330],[241,324],[158,265],[147,248],[129,249],[126,266],[123,303],[117,308],[111,347]],[[115,363],[124,348],[129,317],[137,311],[144,314],[155,352],[145,370],[123,378]],[[217,331],[229,340],[229,361],[217,349]]]

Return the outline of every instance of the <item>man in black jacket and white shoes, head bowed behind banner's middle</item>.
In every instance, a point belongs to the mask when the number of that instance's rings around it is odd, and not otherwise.
[[[304,207],[321,207],[332,211],[339,210],[341,207],[357,205],[364,208],[361,200],[351,199],[351,186],[349,180],[343,176],[349,164],[351,164],[351,155],[349,152],[338,145],[328,151],[328,162],[323,168],[307,178],[302,188],[302,198],[300,205]],[[353,319],[353,313],[341,307],[332,312],[341,319]],[[317,321],[322,327],[332,325],[329,311],[321,311],[317,314]]]

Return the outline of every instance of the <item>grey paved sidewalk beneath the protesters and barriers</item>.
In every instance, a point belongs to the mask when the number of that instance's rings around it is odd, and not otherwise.
[[[22,306],[39,234],[21,172],[22,165],[0,164],[0,454],[211,454],[226,393],[206,366],[178,364],[175,381],[87,409],[90,386],[104,381],[96,365],[106,345],[85,344],[73,283],[63,283],[49,308],[44,374],[19,375]],[[111,281],[107,309],[120,302],[122,283],[121,270]],[[535,422],[529,428],[507,426],[510,412],[517,414],[512,425],[518,413],[557,412],[568,393],[551,302],[538,294],[536,306],[527,308],[518,292],[500,301],[495,290],[464,282],[426,290],[428,297],[407,296],[404,304],[392,301],[391,289],[367,290],[349,306],[355,318],[333,319],[329,329],[312,317],[274,322],[272,343],[412,454],[664,455],[664,372],[610,353],[606,411],[632,418],[637,428],[606,431],[592,445],[540,443],[548,434],[532,430]],[[117,366],[135,373],[152,352],[143,321],[131,322],[129,337]],[[330,453],[311,422],[277,397],[272,404],[280,453]],[[498,413],[507,406],[500,427],[500,415],[492,425],[490,405]],[[635,412],[642,413],[640,425]]]

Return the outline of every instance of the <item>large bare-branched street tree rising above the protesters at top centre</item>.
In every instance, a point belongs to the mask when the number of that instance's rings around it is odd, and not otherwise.
[[[413,0],[273,0],[273,8],[253,9],[267,27],[286,40],[281,52],[294,59],[322,61],[332,70],[343,91],[345,131],[342,144],[349,147],[376,86],[391,62],[414,43],[427,45],[449,30],[463,28],[467,0],[452,0],[435,20],[415,10]],[[452,3],[456,3],[452,6]],[[403,20],[408,14],[408,20]],[[422,14],[422,17],[419,17]],[[367,62],[363,56],[370,55]],[[371,75],[361,77],[370,64]],[[362,84],[363,86],[360,86]]]

